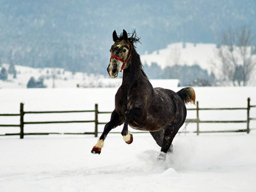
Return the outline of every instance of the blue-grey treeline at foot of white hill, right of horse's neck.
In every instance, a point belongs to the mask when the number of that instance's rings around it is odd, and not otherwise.
[[[179,79],[179,86],[214,86],[216,77],[213,73],[209,74],[207,70],[199,65],[173,65],[162,69],[157,63],[144,65],[144,70],[150,79]]]

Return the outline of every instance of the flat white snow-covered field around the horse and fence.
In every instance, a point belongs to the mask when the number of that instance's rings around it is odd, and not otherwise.
[[[163,86],[180,90],[176,86]],[[100,111],[111,111],[116,89],[2,89],[0,113],[19,113],[20,102],[24,102],[25,111],[93,109],[95,103]],[[255,87],[195,87],[195,92],[202,108],[246,107],[247,97],[251,97],[252,105],[256,104]],[[256,117],[256,108],[251,110],[251,116]],[[107,114],[100,118],[108,121],[109,117]],[[81,120],[91,116],[25,115],[25,120],[39,118]],[[195,118],[195,114],[189,111],[188,118]],[[245,119],[246,111],[205,111],[200,112],[200,118]],[[1,117],[0,121],[19,124],[16,117]],[[205,124],[200,129],[223,130],[228,126]],[[236,124],[228,129],[245,127]],[[148,133],[134,134],[131,145],[120,134],[109,134],[100,155],[90,153],[97,141],[90,135],[25,136],[24,140],[19,140],[19,136],[3,136],[0,137],[0,191],[255,191],[256,121],[250,127],[254,128],[250,134],[177,134],[174,154],[164,163],[156,161],[160,148]],[[93,124],[25,125],[25,132],[90,129],[93,130]],[[193,124],[187,127],[187,131],[194,129]],[[17,127],[0,127],[0,130],[19,132]]]

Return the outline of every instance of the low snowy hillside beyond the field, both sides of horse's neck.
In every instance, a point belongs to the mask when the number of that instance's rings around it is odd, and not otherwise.
[[[8,64],[3,64],[8,69]],[[1,70],[2,67],[0,67]],[[65,71],[63,68],[32,68],[15,65],[17,77],[8,75],[7,81],[0,80],[0,88],[27,88],[28,81],[31,77],[38,79],[44,78],[44,84],[47,88],[100,88],[100,87],[118,87],[122,83],[122,78],[112,79],[110,77],[82,72],[72,73]],[[106,73],[107,74],[107,73]],[[177,79],[151,79],[153,86],[178,86]]]

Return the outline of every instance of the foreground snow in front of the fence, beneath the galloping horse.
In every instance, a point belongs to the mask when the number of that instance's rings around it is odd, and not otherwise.
[[[148,134],[131,145],[109,134],[100,155],[90,154],[95,140],[1,138],[0,191],[255,191],[254,132],[179,135],[164,163]]]

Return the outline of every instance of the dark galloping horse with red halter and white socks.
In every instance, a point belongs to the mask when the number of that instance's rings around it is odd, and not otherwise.
[[[157,160],[165,161],[167,152],[172,151],[173,138],[186,119],[185,104],[195,104],[195,91],[191,87],[182,88],[177,93],[153,88],[134,45],[140,42],[140,38],[135,30],[129,36],[125,30],[119,36],[113,31],[115,43],[110,49],[107,70],[112,78],[116,78],[118,72],[123,70],[122,85],[116,92],[115,109],[110,121],[91,152],[100,154],[109,131],[124,124],[121,134],[125,143],[131,144],[133,141],[128,125],[136,130],[149,131],[161,147]]]

